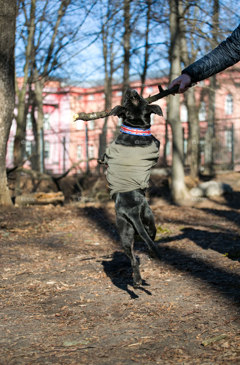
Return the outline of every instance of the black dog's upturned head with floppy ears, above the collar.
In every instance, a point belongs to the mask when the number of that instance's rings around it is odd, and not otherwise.
[[[117,105],[109,115],[117,115],[123,119],[123,124],[128,127],[147,129],[150,128],[151,114],[162,116],[162,109],[158,105],[148,104],[147,101],[138,95],[137,91],[127,89],[123,106]]]

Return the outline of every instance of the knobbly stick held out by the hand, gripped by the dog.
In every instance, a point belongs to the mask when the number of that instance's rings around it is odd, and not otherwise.
[[[162,99],[165,96],[168,96],[168,95],[170,95],[172,93],[177,92],[178,89],[179,89],[179,85],[174,86],[172,89],[167,89],[167,90],[164,90],[161,87],[161,85],[158,85],[159,93],[156,94],[156,95],[153,95],[153,96],[146,97],[145,100],[147,101],[147,103],[151,104],[154,101],[157,101],[159,99]],[[80,119],[80,120],[84,120],[85,122],[87,122],[88,120],[105,118],[106,116],[109,116],[109,113],[110,113],[111,110],[112,109],[109,109],[109,110],[106,109],[106,110],[102,110],[101,112],[92,112],[92,113],[84,113],[84,112],[81,112],[81,113],[76,113],[73,116],[73,121],[75,122],[76,120]]]

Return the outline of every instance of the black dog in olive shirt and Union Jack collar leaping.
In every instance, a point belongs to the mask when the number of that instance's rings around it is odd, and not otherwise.
[[[98,158],[108,165],[107,180],[115,202],[117,230],[133,268],[134,289],[142,284],[138,261],[133,253],[134,235],[138,234],[149,247],[152,258],[158,258],[154,244],[156,226],[153,212],[145,198],[150,167],[156,165],[160,142],[150,134],[150,115],[162,116],[158,105],[150,105],[137,91],[127,89],[123,106],[117,105],[109,115],[123,118],[121,135]]]

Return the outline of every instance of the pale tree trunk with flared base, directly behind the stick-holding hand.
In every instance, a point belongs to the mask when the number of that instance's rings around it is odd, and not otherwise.
[[[179,34],[179,13],[178,0],[169,0],[170,7],[170,33],[171,46],[169,50],[169,59],[171,63],[170,80],[174,80],[181,74],[180,63],[180,34]],[[180,122],[180,95],[176,94],[169,98],[168,123],[172,128],[173,134],[173,160],[172,160],[172,199],[179,204],[184,204],[186,199],[190,198],[188,189],[184,182],[184,165],[183,165],[183,135],[182,125]]]

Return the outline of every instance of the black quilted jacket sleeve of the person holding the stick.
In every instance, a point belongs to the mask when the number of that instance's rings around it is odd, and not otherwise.
[[[185,68],[182,74],[188,74],[191,83],[197,82],[225,70],[238,61],[240,61],[240,24],[226,41],[223,41],[210,53]]]

